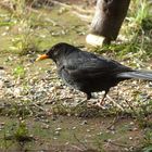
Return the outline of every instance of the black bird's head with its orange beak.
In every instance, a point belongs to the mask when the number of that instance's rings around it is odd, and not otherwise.
[[[46,50],[45,54],[39,55],[36,61],[52,59],[55,62],[59,58],[63,58],[66,53],[74,51],[74,46],[65,42],[56,43],[51,49]]]

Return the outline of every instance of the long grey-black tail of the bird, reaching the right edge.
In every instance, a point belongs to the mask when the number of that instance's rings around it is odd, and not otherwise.
[[[144,71],[132,71],[132,72],[123,72],[116,75],[117,78],[136,78],[136,79],[145,79],[152,80],[152,72]]]

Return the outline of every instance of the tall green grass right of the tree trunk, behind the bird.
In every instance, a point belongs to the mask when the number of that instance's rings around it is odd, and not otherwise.
[[[110,46],[97,48],[96,51],[99,53],[110,52],[115,54],[114,58],[121,60],[129,59],[131,62],[135,59],[142,62],[150,60],[152,56],[151,10],[152,7],[147,0],[131,1],[128,14],[119,31],[119,39],[122,39],[123,36],[125,37],[125,40],[118,43],[114,42]]]

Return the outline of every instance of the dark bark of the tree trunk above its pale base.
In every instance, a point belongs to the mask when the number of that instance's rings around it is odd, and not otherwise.
[[[130,0],[98,0],[91,33],[105,38],[105,43],[117,38]]]

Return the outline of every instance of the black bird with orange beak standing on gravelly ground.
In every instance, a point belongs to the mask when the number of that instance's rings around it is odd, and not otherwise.
[[[43,59],[53,60],[60,78],[67,86],[85,92],[87,100],[91,98],[91,92],[105,91],[103,101],[111,87],[126,79],[152,80],[152,72],[132,69],[65,42],[54,45],[36,61]]]

